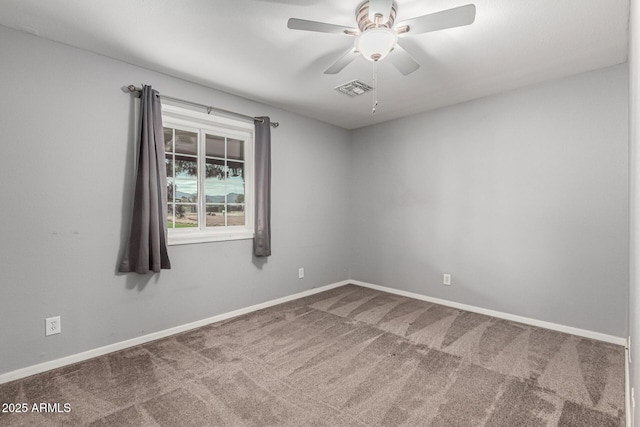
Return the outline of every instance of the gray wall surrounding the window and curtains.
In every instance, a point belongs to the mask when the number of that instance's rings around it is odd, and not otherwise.
[[[348,278],[347,131],[5,27],[0,59],[0,373]],[[172,270],[116,274],[132,83],[280,121],[264,265],[243,240],[171,246]],[[53,315],[62,334],[45,338]]]

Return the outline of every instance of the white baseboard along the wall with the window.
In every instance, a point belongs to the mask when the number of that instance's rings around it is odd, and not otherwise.
[[[132,338],[126,341],[120,341],[114,344],[109,344],[104,347],[94,348],[92,350],[84,351],[82,353],[73,354],[71,356],[62,357],[60,359],[51,360],[49,362],[39,363],[37,365],[28,366],[26,368],[17,369],[15,371],[0,374],[0,384],[7,383],[9,381],[18,380],[21,378],[29,377],[31,375],[40,374],[42,372],[50,371],[52,369],[62,368],[64,366],[72,365],[74,363],[82,362],[94,357],[104,356],[105,354],[113,353],[114,351],[124,350],[126,348],[135,347],[140,344],[146,344],[151,341],[155,341],[160,338],[166,338],[171,335],[175,335],[181,332],[186,332],[191,329],[200,328],[202,326],[210,325],[211,323],[227,320],[232,317],[240,316],[242,314],[251,313],[253,311],[262,310],[274,305],[282,304],[285,302],[293,301],[298,298],[303,298],[309,295],[317,294],[320,292],[328,291],[329,289],[337,288],[351,283],[349,280],[342,282],[332,283],[330,285],[322,286],[319,288],[309,289],[304,292],[289,295],[286,297],[274,299],[271,301],[263,302],[261,304],[252,305],[250,307],[241,308],[238,310],[230,311],[228,313],[219,314],[217,316],[209,317],[207,319],[198,320],[196,322],[187,323],[186,325],[176,326],[175,328],[165,329],[163,331],[154,332],[151,334],[143,335],[140,337]]]

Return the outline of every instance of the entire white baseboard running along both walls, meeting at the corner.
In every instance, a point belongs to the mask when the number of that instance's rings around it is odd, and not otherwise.
[[[366,288],[377,289],[382,292],[387,292],[391,294],[401,295],[408,298],[414,298],[417,300],[433,302],[435,304],[444,305],[447,307],[458,308],[461,310],[471,311],[474,313],[485,314],[487,316],[497,317],[505,320],[512,320],[514,322],[520,322],[527,325],[538,326],[545,329],[551,329],[554,331],[564,332],[572,335],[578,335],[581,337],[591,338],[599,341],[605,341],[612,344],[624,345],[626,346],[627,340],[625,338],[620,338],[612,335],[606,335],[599,332],[588,331],[584,329],[573,328],[571,326],[559,325],[556,323],[545,322],[542,320],[530,319],[528,317],[517,316],[514,314],[502,313],[494,310],[487,310],[481,307],[475,307],[472,305],[461,304],[453,301],[447,301],[438,298],[428,297],[426,295],[420,295],[413,292],[402,291],[399,289],[387,288],[385,286],[374,285],[371,283],[361,282],[358,280],[343,280],[341,282],[332,283],[330,285],[322,286],[319,288],[310,289],[304,292],[299,292],[297,294],[289,295],[283,298],[278,298],[275,300],[267,301],[261,304],[252,305],[250,307],[241,308],[238,310],[230,311],[228,313],[219,314],[217,316],[209,317],[207,319],[198,320],[196,322],[188,323],[181,326],[176,326],[175,328],[165,329],[163,331],[154,332],[151,334],[143,335],[140,337],[132,338],[126,341],[121,341],[118,343],[106,345],[104,347],[95,348],[92,350],[88,350],[82,353],[77,353],[71,356],[63,357],[56,360],[51,360],[49,362],[39,363],[37,365],[28,366],[26,368],[17,369],[15,371],[7,372],[4,374],[0,374],[0,384],[7,383],[9,381],[18,380],[21,378],[25,378],[31,375],[40,374],[42,372],[49,371],[51,369],[61,368],[63,366],[68,366],[74,363],[82,362],[84,360],[91,359],[93,357],[104,356],[105,354],[113,353],[114,351],[124,350],[126,348],[134,347],[140,344],[145,344],[150,341],[154,341],[160,338],[165,338],[171,335],[175,335],[181,332],[186,332],[191,329],[200,328],[202,326],[209,325],[211,323],[220,322],[222,320],[227,320],[232,317],[240,316],[242,314],[251,313],[257,310],[261,310],[263,308],[272,307],[274,305],[282,304],[288,301],[293,301],[299,298],[303,298],[309,295],[317,294],[320,292],[328,291],[329,289],[338,288],[340,286],[354,284]]]

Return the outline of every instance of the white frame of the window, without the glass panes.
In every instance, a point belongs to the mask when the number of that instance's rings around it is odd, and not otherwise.
[[[206,114],[172,104],[162,104],[163,127],[198,133],[198,227],[168,228],[168,244],[184,245],[194,243],[222,242],[231,240],[253,239],[254,237],[254,145],[255,126],[253,123]],[[205,170],[206,152],[205,135],[239,139],[244,141],[244,226],[206,226],[206,194]],[[227,157],[225,161],[234,161]]]

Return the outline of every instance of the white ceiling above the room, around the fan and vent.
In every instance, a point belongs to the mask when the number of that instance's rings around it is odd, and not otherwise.
[[[421,67],[381,61],[372,114],[371,93],[333,90],[371,84],[371,62],[323,74],[353,38],[287,29],[291,17],[355,27],[360,1],[0,0],[0,24],[346,129],[627,60],[629,0],[396,0],[396,22],[468,3],[476,20],[405,37]]]

